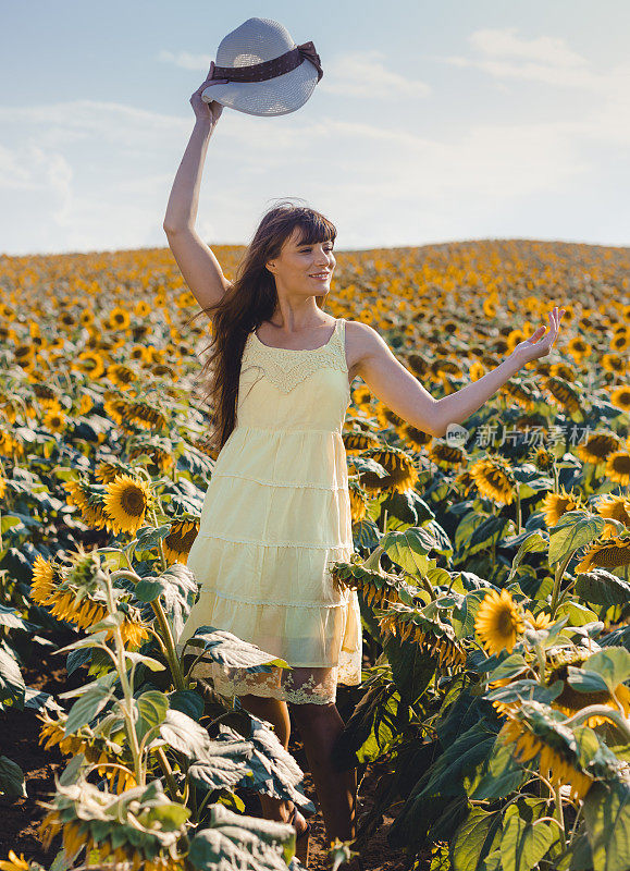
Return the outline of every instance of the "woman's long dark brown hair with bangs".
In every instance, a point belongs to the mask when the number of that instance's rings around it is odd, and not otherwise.
[[[219,452],[236,425],[240,359],[247,336],[263,321],[270,320],[277,306],[277,291],[273,274],[265,268],[269,260],[279,257],[282,246],[299,228],[302,245],[334,242],[335,225],[323,214],[308,206],[296,206],[282,200],[262,217],[258,229],[240,260],[236,279],[221,300],[203,308],[212,319],[213,340],[203,349],[214,348],[202,367],[200,378],[206,379],[205,400],[213,410],[214,429],[208,446]],[[319,308],[325,294],[316,296]]]

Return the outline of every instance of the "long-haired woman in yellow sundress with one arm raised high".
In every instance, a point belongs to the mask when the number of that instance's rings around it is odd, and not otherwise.
[[[331,750],[343,729],[337,683],[360,682],[356,593],[333,589],[326,569],[353,550],[341,429],[349,384],[360,376],[400,418],[435,437],[466,420],[555,342],[564,310],[549,312],[496,369],[434,400],[366,323],[320,307],[335,268],[334,225],[282,204],[260,222],[232,284],[195,232],[202,164],[223,107],[190,98],[196,123],[175,176],[163,226],[186,283],[212,317],[211,392],[220,449],[188,565],[200,584],[178,648],[201,625],[234,633],[285,659],[291,670],[247,675],[211,666],[222,694],[273,724],[288,746],[291,713],[302,738],[326,834],[355,837],[356,774]],[[293,802],[264,798],[265,817],[289,821],[298,856],[308,825]],[[301,836],[301,837],[300,837]]]

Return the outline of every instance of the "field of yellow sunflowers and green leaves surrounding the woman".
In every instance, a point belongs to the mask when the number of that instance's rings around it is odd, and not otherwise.
[[[243,248],[213,250],[233,274]],[[302,771],[193,676],[286,663],[212,626],[177,652],[217,458],[208,321],[169,249],[2,257],[0,287],[0,723],[35,717],[64,758],[37,821],[49,860],[9,845],[0,869],[297,871],[293,827],[250,809],[263,794],[314,811]],[[455,438],[354,382],[355,553],[332,576],[358,591],[365,671],[339,691],[335,757],[376,787],[333,869],[385,819],[400,868],[630,868],[630,249],[342,252],[326,298],[435,397],[556,304],[552,354]],[[24,678],[51,651],[72,685],[58,696]],[[32,784],[3,753],[9,808]]]

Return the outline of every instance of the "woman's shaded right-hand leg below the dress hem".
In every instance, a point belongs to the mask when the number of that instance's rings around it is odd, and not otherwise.
[[[318,799],[321,805],[328,841],[354,841],[356,837],[357,772],[339,771],[331,755],[344,721],[334,703],[292,704],[291,712],[299,729]]]

